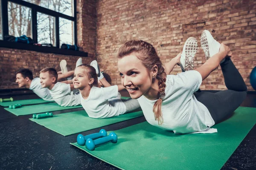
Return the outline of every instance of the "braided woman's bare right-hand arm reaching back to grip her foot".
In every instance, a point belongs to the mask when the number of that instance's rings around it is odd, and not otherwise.
[[[221,60],[223,60],[227,56],[231,57],[232,52],[227,45],[221,43],[220,51],[217,54],[213,55],[211,58],[209,58],[201,67],[195,70],[201,74],[202,79],[204,80],[209,76],[212,71],[218,68]]]

